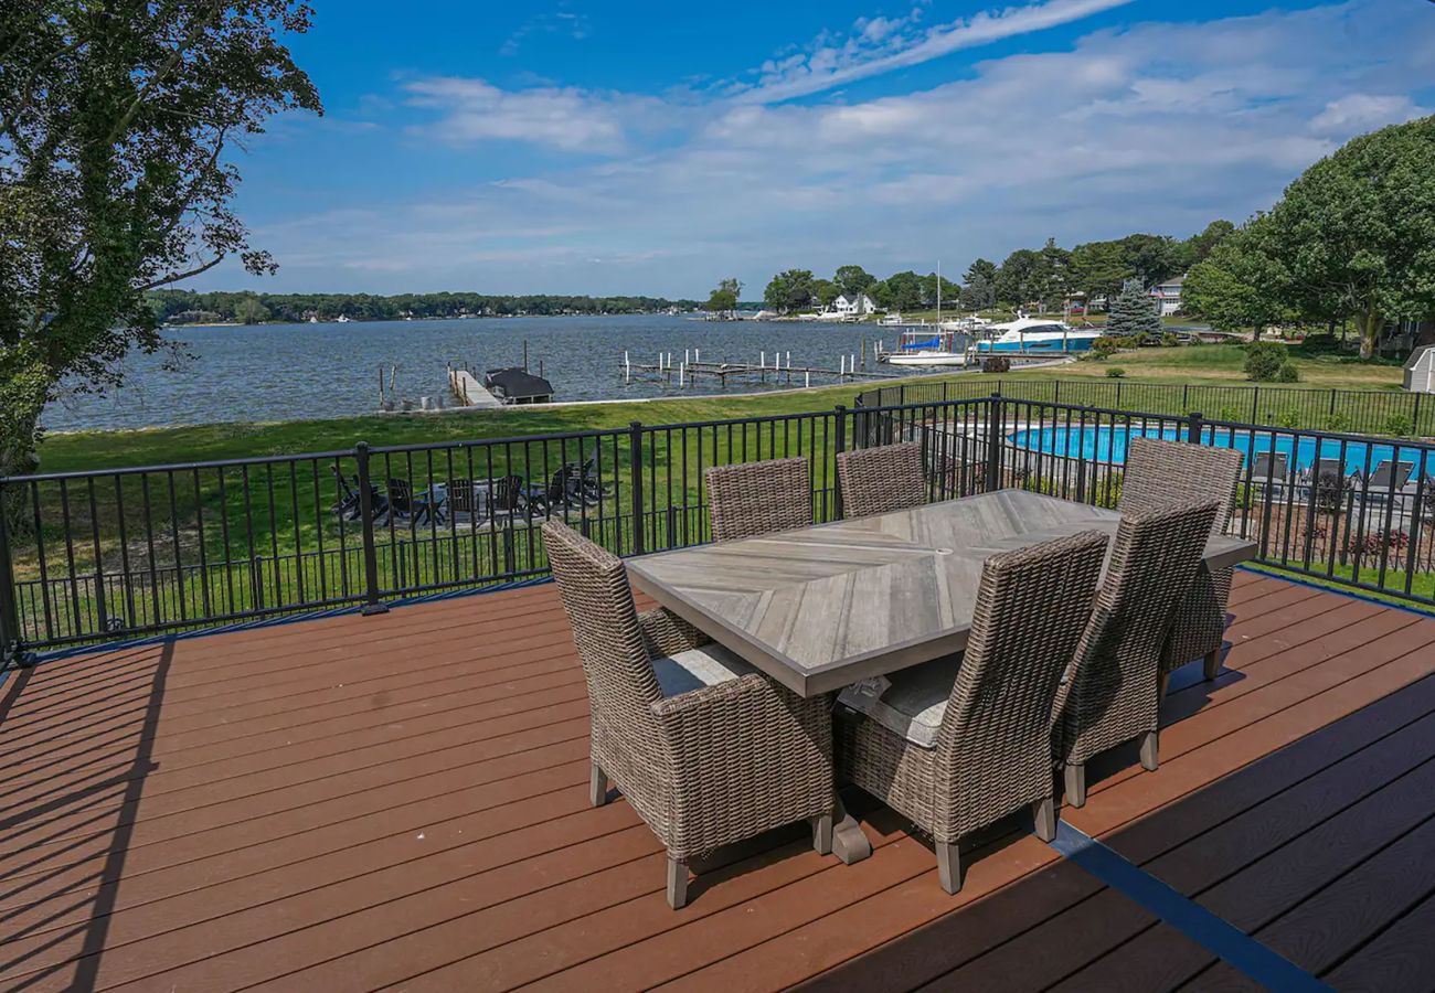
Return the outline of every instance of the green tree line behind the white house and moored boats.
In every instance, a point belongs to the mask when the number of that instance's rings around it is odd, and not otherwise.
[[[931,310],[937,306],[938,283],[944,304],[966,310],[996,307],[1058,309],[1076,294],[1086,300],[1112,300],[1128,281],[1142,287],[1162,283],[1204,261],[1236,225],[1213,221],[1190,238],[1161,234],[1128,234],[1109,241],[1086,241],[1062,248],[1048,238],[1040,248],[1017,248],[999,265],[977,258],[961,283],[936,273],[894,273],[884,280],[861,265],[842,265],[832,278],[811,270],[791,268],[768,283],[762,300],[779,311],[828,307],[838,296],[865,293],[884,310]]]

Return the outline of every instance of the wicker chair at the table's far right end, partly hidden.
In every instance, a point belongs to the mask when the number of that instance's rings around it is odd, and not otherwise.
[[[1225,531],[1236,502],[1236,482],[1244,456],[1233,448],[1213,448],[1154,438],[1132,438],[1126,448],[1125,476],[1116,509],[1141,512],[1172,501],[1217,501],[1211,534]],[[1221,647],[1225,643],[1225,611],[1231,601],[1234,568],[1197,573],[1190,593],[1171,621],[1161,651],[1161,695],[1174,670],[1192,659],[1203,660],[1205,679],[1221,672]]]

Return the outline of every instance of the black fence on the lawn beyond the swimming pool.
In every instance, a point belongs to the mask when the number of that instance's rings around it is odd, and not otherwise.
[[[1115,363],[1114,363],[1115,364]],[[1435,396],[1399,390],[1292,386],[1200,386],[1121,379],[1020,380],[973,376],[964,382],[894,383],[857,396],[854,406],[901,406],[990,396],[1108,410],[1184,415],[1203,410],[1221,420],[1389,436],[1435,436]]]

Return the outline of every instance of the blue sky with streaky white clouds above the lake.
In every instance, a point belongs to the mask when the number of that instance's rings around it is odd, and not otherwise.
[[[1435,109],[1435,4],[314,0],[194,288],[706,296],[1185,235]]]

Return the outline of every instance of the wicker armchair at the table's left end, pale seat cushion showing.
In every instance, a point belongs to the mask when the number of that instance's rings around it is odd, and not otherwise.
[[[623,561],[560,521],[542,525],[591,712],[591,801],[608,781],[667,850],[667,903],[689,862],[808,819],[832,850],[832,719],[663,610],[637,613]]]

